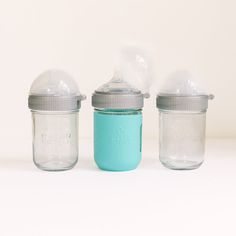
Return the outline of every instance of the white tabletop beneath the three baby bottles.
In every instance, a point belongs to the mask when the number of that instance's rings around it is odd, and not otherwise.
[[[96,168],[92,142],[66,172],[36,169],[30,148],[0,153],[0,235],[235,235],[236,140],[209,140],[193,171],[161,166],[157,141],[130,172]]]

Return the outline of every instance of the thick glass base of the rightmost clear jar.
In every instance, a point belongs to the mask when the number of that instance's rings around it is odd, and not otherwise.
[[[160,160],[162,165],[171,170],[194,170],[199,168],[203,162],[194,162],[186,160]]]

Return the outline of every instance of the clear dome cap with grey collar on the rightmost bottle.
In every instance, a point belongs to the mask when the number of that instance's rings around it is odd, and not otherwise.
[[[213,98],[193,81],[191,73],[176,71],[165,81],[156,105],[163,110],[204,111],[208,108],[208,100]]]

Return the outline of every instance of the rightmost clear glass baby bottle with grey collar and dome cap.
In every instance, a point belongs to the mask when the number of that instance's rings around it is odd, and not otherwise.
[[[172,74],[157,95],[159,158],[177,170],[198,168],[204,160],[208,100],[186,71]]]

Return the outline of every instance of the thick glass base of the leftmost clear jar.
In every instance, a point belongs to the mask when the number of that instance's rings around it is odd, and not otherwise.
[[[76,165],[77,161],[73,164],[68,164],[62,161],[49,161],[44,163],[36,163],[34,164],[40,169],[44,171],[65,171],[70,170]]]

